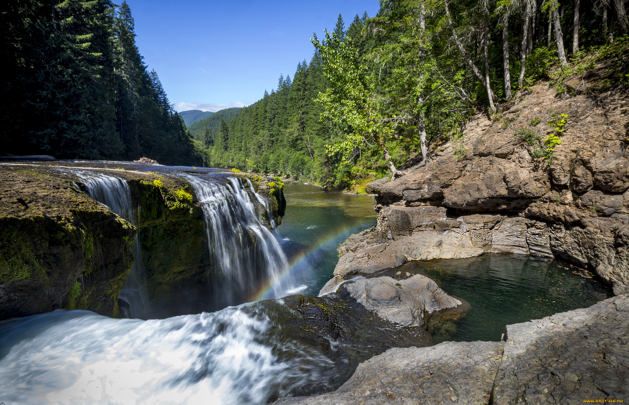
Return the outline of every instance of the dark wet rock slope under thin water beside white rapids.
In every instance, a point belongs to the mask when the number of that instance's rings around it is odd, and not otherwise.
[[[347,291],[321,297],[297,294],[249,303],[242,309],[277,325],[269,331],[268,340],[277,342],[274,352],[279,359],[294,359],[296,348],[299,353],[308,348],[311,359],[326,359],[316,364],[320,374],[317,384],[278,393],[282,396],[331,391],[347,381],[361,362],[391,347],[432,344],[423,328],[403,327],[381,318],[366,310]],[[312,370],[307,361],[302,367]]]

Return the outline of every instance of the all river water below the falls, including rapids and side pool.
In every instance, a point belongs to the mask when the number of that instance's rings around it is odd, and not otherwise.
[[[339,244],[376,223],[374,198],[291,181],[284,196],[274,237],[287,266],[254,302],[167,319],[57,310],[0,321],[0,402],[262,405],[331,391],[388,347],[423,345],[425,332],[400,332],[347,300],[316,297]],[[525,256],[411,262],[385,273],[425,274],[472,305],[458,323],[433,328],[435,342],[499,340],[508,323],[609,296],[576,267]],[[265,300],[278,286],[287,286],[281,296],[300,295]]]

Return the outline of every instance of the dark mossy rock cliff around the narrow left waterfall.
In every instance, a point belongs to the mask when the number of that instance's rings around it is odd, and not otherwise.
[[[0,319],[57,308],[120,316],[118,295],[134,262],[136,233],[154,315],[203,307],[213,266],[192,186],[178,176],[85,165],[126,180],[137,207],[130,224],[90,197],[64,165],[70,163],[0,165]],[[265,183],[254,186],[279,222],[282,192],[271,195]],[[190,193],[192,201],[175,190]],[[266,208],[252,201],[270,228]]]

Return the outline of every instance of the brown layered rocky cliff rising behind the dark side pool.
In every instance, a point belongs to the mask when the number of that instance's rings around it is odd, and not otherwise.
[[[629,96],[583,85],[573,97],[535,85],[471,119],[462,141],[433,145],[426,165],[367,186],[377,225],[343,244],[321,292],[409,260],[485,252],[561,257],[629,291]],[[542,156],[549,134],[561,143]]]

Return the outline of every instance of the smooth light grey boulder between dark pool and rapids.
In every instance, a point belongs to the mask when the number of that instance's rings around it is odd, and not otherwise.
[[[403,280],[386,276],[356,279],[343,283],[339,291],[347,291],[367,310],[404,327],[426,327],[425,314],[463,306],[421,274]]]

